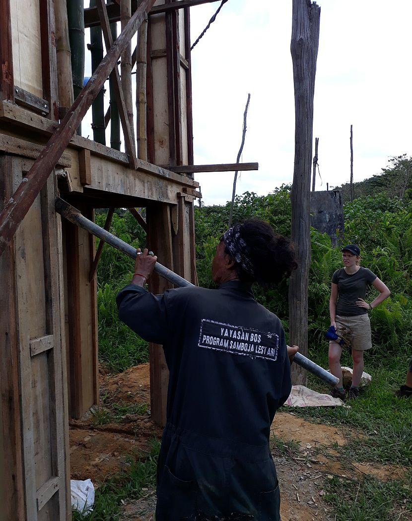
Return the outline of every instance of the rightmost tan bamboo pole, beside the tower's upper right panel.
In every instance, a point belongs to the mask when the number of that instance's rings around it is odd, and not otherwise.
[[[148,160],[147,134],[147,43],[148,19],[143,20],[139,29],[139,39],[136,48],[136,109],[137,109],[137,154],[143,161]]]

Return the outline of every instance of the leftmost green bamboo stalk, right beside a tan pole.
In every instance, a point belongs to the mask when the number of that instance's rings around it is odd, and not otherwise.
[[[67,20],[71,48],[71,72],[75,99],[84,81],[84,6],[83,0],[67,0]],[[81,125],[77,129],[81,134]]]

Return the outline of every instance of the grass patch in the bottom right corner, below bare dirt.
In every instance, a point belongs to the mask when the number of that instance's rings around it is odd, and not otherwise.
[[[399,521],[412,512],[410,483],[369,476],[359,482],[333,477],[328,485],[325,500],[340,521]]]

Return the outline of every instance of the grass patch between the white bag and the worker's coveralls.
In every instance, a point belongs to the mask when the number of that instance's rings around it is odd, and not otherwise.
[[[128,456],[123,472],[99,483],[93,512],[87,517],[73,512],[73,521],[117,521],[122,501],[139,499],[144,495],[142,488],[154,488],[159,450],[159,440],[153,440],[151,453],[143,461],[138,459],[138,455]]]

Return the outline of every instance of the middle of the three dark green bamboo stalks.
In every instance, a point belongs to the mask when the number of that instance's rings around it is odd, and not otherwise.
[[[90,7],[96,5],[96,0],[90,0]],[[90,54],[92,58],[92,73],[103,59],[103,38],[100,27],[90,28]],[[103,87],[92,105],[93,139],[102,145],[106,144],[106,126],[104,124],[104,90]]]

